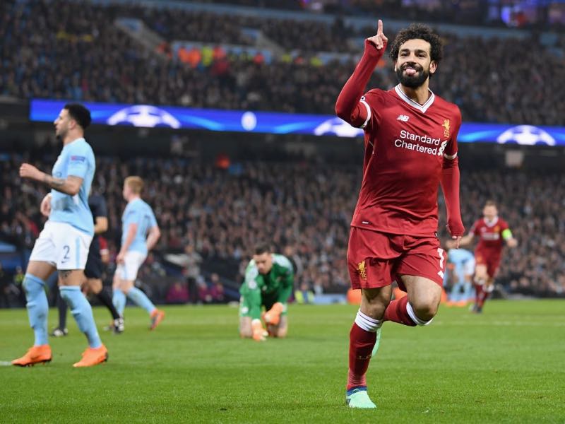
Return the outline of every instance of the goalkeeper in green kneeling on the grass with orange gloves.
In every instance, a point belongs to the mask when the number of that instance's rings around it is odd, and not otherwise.
[[[287,335],[287,300],[293,281],[292,264],[286,257],[271,253],[263,245],[255,249],[239,289],[239,334],[242,337],[264,341],[267,336]]]

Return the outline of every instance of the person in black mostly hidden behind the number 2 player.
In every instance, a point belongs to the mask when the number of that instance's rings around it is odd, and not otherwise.
[[[106,201],[100,194],[90,194],[88,197],[88,207],[94,218],[94,237],[88,249],[88,259],[84,269],[85,281],[82,285],[83,293],[93,293],[102,305],[108,308],[112,314],[114,332],[124,331],[124,319],[121,318],[112,303],[112,298],[102,288],[102,269],[103,261],[100,248],[99,235],[108,229],[108,212]],[[41,213],[49,217],[51,212],[51,194],[47,194],[41,202]],[[57,296],[57,307],[59,309],[59,325],[51,332],[52,336],[66,336],[69,330],[66,329],[66,302],[61,298],[61,293]]]

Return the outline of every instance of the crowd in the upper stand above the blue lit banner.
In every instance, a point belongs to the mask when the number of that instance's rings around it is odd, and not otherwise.
[[[374,28],[218,16],[134,6],[100,6],[63,0],[5,1],[0,6],[0,95],[82,101],[150,103],[235,110],[332,114],[335,98],[355,61],[323,64],[314,52],[354,52],[347,35]],[[159,57],[114,25],[120,16],[143,19],[168,39],[209,42],[191,64]],[[241,29],[262,29],[284,49],[268,64],[261,54],[227,54],[221,44],[249,44]],[[392,39],[393,34],[388,35]],[[565,123],[565,87],[559,78],[563,49],[525,40],[444,34],[446,59],[432,90],[459,105],[465,121]],[[220,45],[218,45],[220,43]],[[480,60],[477,54],[480,52]],[[516,60],[516,57],[521,58]],[[369,87],[396,84],[389,59]],[[143,69],[144,72],[137,72]]]

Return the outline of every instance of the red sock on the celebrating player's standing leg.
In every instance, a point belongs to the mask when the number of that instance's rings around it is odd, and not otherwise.
[[[367,386],[367,368],[371,360],[371,351],[375,346],[376,332],[367,331],[355,322],[349,334],[349,372],[347,390],[357,386]]]

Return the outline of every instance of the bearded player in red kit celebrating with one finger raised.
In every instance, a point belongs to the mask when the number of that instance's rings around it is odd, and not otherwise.
[[[387,42],[379,20],[335,104],[340,118],[365,132],[363,179],[347,249],[352,288],[362,290],[350,331],[345,397],[350,408],[376,408],[365,375],[383,322],[423,326],[437,312],[445,266],[436,237],[440,184],[456,244],[464,232],[457,158],[461,115],[429,90],[441,40],[424,25],[401,30],[390,53],[400,83],[362,95]],[[392,281],[408,295],[391,301]]]

